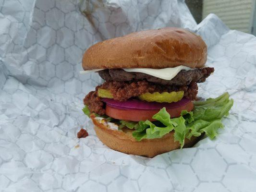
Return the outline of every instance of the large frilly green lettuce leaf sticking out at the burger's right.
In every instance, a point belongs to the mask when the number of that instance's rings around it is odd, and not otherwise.
[[[219,128],[223,128],[221,119],[228,115],[232,105],[233,99],[229,99],[229,94],[224,93],[217,98],[194,102],[194,110],[183,110],[179,118],[170,118],[170,114],[162,108],[152,118],[163,126],[157,126],[155,121],[140,121],[133,136],[137,141],[143,138],[154,139],[174,130],[174,140],[181,144],[181,148],[185,138],[198,137],[202,133],[213,139],[218,135]]]

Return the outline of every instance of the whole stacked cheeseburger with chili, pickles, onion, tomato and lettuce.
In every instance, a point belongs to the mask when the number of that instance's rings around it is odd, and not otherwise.
[[[205,67],[207,45],[180,28],[135,32],[88,48],[82,65],[105,80],[84,98],[83,111],[103,144],[153,157],[193,146],[222,128],[233,100],[228,93],[196,101],[197,84],[214,68]]]

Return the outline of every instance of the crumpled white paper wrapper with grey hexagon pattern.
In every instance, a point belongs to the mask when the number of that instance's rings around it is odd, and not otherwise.
[[[0,0],[0,24],[0,191],[255,191],[255,36],[214,14],[196,25],[183,0]],[[225,128],[154,158],[111,150],[81,110],[102,81],[79,74],[82,55],[104,39],[165,26],[206,41],[215,72],[199,96],[231,94]],[[81,127],[89,136],[77,139]]]

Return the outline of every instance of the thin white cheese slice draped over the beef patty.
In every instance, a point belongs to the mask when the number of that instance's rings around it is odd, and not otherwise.
[[[104,69],[94,69],[80,72],[81,74],[86,74],[89,72],[98,72]],[[183,65],[171,68],[163,68],[163,69],[150,69],[150,68],[131,68],[131,69],[123,69],[126,72],[142,72],[148,75],[152,75],[154,77],[158,77],[160,79],[171,80],[173,79],[181,70],[193,70],[190,67],[186,67]]]

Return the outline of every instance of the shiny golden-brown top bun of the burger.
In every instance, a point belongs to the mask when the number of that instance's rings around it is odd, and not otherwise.
[[[201,68],[207,45],[200,36],[166,27],[131,33],[99,42],[85,51],[84,70],[113,68],[162,69],[184,65]]]

